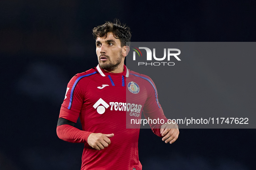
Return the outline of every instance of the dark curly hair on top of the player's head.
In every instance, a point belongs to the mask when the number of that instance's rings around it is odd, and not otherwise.
[[[131,41],[131,31],[130,28],[127,27],[125,24],[121,24],[118,19],[114,20],[113,22],[106,21],[103,25],[99,25],[93,28],[93,35],[94,39],[96,40],[97,37],[107,37],[107,33],[112,32],[114,38],[120,39],[121,46],[125,46],[126,42],[127,45],[130,47]]]

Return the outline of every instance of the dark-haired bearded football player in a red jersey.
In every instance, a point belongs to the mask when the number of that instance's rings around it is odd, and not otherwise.
[[[68,83],[57,135],[67,142],[84,143],[81,170],[141,170],[139,128],[126,129],[126,120],[139,119],[143,111],[146,118],[167,122],[156,87],[148,76],[124,65],[130,28],[118,21],[106,22],[94,28],[93,35],[99,64]],[[78,117],[83,130],[74,127]],[[176,124],[150,126],[165,143],[178,138]]]

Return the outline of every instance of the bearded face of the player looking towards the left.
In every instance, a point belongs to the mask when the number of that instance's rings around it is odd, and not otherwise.
[[[119,39],[114,38],[113,33],[109,32],[106,37],[96,39],[96,53],[100,68],[107,71],[114,71],[123,67],[126,46],[121,47]]]

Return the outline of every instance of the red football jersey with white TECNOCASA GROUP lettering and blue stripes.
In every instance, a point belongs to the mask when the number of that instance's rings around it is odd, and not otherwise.
[[[75,123],[80,117],[83,131],[114,134],[111,144],[100,151],[85,142],[81,170],[141,170],[139,126],[131,125],[130,120],[139,120],[142,112],[146,119],[167,122],[148,76],[126,66],[122,73],[110,73],[99,65],[75,75],[68,83],[59,117]],[[128,129],[135,126],[137,129]],[[150,126],[161,136],[159,126]]]

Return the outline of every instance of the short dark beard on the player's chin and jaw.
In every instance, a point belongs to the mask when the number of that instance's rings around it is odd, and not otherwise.
[[[107,57],[109,62],[107,63],[104,61],[100,61],[101,56]],[[110,60],[110,57],[107,55],[100,55],[100,57],[98,57],[98,63],[99,63],[100,68],[105,69],[107,71],[113,71],[113,70],[117,69],[117,67],[119,66],[119,64],[122,61],[122,51],[120,51],[119,57],[115,61]]]

